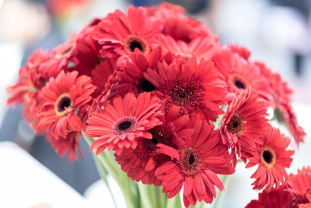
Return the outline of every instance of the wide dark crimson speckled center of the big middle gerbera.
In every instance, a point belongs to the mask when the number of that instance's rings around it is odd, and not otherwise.
[[[180,107],[179,114],[196,115],[200,110],[204,96],[204,86],[200,80],[194,77],[188,79],[176,79],[163,86],[166,97],[166,107],[169,108],[173,104]]]

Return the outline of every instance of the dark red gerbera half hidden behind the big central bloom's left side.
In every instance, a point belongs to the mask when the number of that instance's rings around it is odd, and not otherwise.
[[[116,72],[114,78],[109,79],[109,83],[115,84],[110,87],[109,97],[117,94],[134,93],[136,96],[143,92],[152,92],[156,87],[144,77],[147,69],[154,70],[158,61],[171,63],[174,55],[171,53],[162,54],[161,47],[156,47],[151,54],[144,55],[138,49],[130,55],[131,59],[126,62],[120,71]]]

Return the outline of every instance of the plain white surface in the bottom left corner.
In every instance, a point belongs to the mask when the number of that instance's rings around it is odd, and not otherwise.
[[[0,142],[0,208],[89,208],[86,200],[14,143]]]

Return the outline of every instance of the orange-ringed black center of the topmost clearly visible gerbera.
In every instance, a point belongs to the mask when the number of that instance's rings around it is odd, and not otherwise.
[[[145,38],[133,34],[124,41],[124,50],[129,54],[134,52],[135,48],[138,48],[143,54],[150,52],[150,47]]]

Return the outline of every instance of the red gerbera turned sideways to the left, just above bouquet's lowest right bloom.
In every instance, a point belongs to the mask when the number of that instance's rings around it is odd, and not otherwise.
[[[220,127],[223,143],[234,148],[234,153],[246,158],[257,144],[262,144],[264,127],[269,126],[267,105],[258,100],[258,94],[244,90],[229,104]]]

